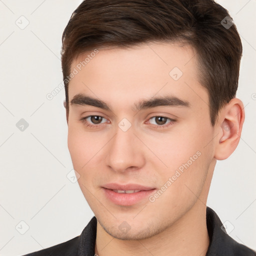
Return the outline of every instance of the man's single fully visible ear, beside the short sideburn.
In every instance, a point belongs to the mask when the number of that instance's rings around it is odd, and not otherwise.
[[[243,103],[238,98],[232,98],[220,110],[216,127],[218,136],[214,154],[217,160],[226,159],[238,145],[244,115]]]

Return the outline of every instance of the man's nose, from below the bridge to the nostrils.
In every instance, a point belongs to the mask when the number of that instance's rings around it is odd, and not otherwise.
[[[123,131],[119,127],[106,148],[105,164],[113,171],[125,172],[141,168],[145,163],[143,143],[129,128]]]

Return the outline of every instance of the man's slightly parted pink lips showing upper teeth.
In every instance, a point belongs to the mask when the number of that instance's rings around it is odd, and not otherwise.
[[[108,183],[102,186],[106,199],[114,204],[129,206],[148,199],[156,188],[139,184]]]

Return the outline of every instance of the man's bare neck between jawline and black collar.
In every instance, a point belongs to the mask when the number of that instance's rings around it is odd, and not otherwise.
[[[200,200],[173,225],[146,239],[114,238],[97,222],[95,253],[99,256],[205,256],[208,246],[206,206]]]

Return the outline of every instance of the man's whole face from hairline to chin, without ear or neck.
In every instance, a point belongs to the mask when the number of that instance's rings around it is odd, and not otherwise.
[[[207,193],[214,129],[194,54],[149,43],[72,62],[68,149],[84,197],[114,237],[157,234]]]

